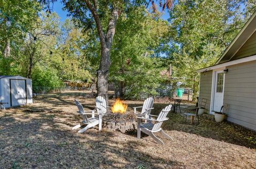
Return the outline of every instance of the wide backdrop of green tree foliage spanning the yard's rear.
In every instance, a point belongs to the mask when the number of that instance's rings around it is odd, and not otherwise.
[[[39,2],[45,3],[49,12],[47,3],[55,0]],[[33,86],[42,87],[96,79],[101,45],[93,16],[82,0],[62,2],[71,16],[63,24],[56,13],[42,12],[36,1],[0,1],[1,74],[29,77]],[[168,23],[161,19],[161,13],[148,12],[146,1],[98,1],[103,32],[111,10],[118,8],[109,83],[115,83],[124,98],[158,95],[157,88],[170,82],[161,74],[170,63],[173,82],[183,82],[196,94],[196,70],[217,61],[255,9],[254,2],[241,0],[174,3]],[[5,15],[12,20],[9,29]],[[8,40],[11,55],[4,58]]]

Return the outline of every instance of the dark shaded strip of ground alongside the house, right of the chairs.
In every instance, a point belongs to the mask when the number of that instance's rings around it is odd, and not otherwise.
[[[168,104],[155,103],[151,114],[158,115],[161,110]],[[129,105],[130,107],[141,106],[137,104]],[[186,108],[191,107],[191,104],[181,104],[181,113],[169,112],[167,117],[169,120],[163,123],[164,130],[177,130],[191,134],[197,134],[205,138],[212,138],[219,141],[233,143],[239,146],[256,148],[256,132],[243,128],[242,126],[214,121],[214,116],[204,114],[199,117],[199,125],[192,125],[190,120],[187,123],[182,122],[182,113]],[[135,133],[133,133],[134,136]],[[255,140],[252,140],[254,138]]]

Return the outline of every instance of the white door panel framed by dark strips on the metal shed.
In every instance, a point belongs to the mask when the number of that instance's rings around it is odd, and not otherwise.
[[[26,104],[26,80],[11,79],[11,106]]]

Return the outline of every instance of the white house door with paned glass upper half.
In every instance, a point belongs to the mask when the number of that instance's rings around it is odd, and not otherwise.
[[[216,71],[213,99],[213,111],[220,112],[223,105],[225,74],[223,71]]]

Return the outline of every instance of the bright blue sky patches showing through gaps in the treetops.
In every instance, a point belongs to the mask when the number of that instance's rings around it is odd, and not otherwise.
[[[64,22],[66,18],[68,17],[67,11],[63,11],[63,4],[60,1],[57,1],[53,4],[53,11],[56,12],[60,16],[60,21]],[[162,19],[167,20],[169,19],[169,13],[165,10],[162,16]]]

